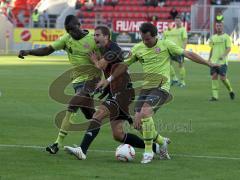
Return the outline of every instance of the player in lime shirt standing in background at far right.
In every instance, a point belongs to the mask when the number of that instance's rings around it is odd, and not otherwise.
[[[230,81],[227,78],[227,56],[231,51],[231,41],[229,35],[223,31],[223,22],[217,22],[216,34],[210,38],[209,45],[211,47],[209,61],[219,64],[220,67],[213,67],[210,70],[212,76],[212,98],[210,101],[218,100],[219,82],[218,76],[229,91],[230,98],[233,100],[235,94],[233,92]]]

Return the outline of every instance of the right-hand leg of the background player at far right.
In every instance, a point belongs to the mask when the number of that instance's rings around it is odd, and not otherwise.
[[[223,82],[224,86],[229,91],[229,96],[233,100],[235,98],[235,94],[233,92],[232,86],[230,84],[230,81],[227,78],[227,65],[224,64],[219,69],[220,79]]]

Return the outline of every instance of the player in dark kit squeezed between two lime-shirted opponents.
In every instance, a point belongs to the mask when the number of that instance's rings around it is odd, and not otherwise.
[[[95,28],[94,39],[101,50],[98,58],[96,53],[91,53],[91,60],[96,67],[104,71],[106,79],[101,80],[97,88],[105,87],[106,100],[98,107],[94,113],[91,124],[85,133],[83,141],[79,147],[65,146],[64,149],[75,155],[79,160],[86,159],[87,150],[99,132],[99,127],[104,118],[110,118],[112,134],[116,141],[130,144],[133,147],[144,148],[145,144],[138,136],[125,133],[123,130],[124,121],[132,124],[129,115],[129,105],[135,97],[130,76],[127,72],[127,65],[122,64],[123,56],[121,48],[110,40],[110,30],[105,26]],[[153,151],[164,159],[163,152],[165,146],[153,144]]]

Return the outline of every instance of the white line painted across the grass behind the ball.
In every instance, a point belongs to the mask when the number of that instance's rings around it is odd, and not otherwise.
[[[30,148],[30,149],[45,149],[43,146],[30,146],[30,145],[17,145],[17,144],[0,144],[0,148]],[[100,150],[94,149],[89,150],[90,152],[100,152],[100,153],[115,153],[111,150]],[[240,157],[227,157],[227,156],[198,156],[198,155],[188,155],[188,154],[171,154],[171,156],[176,157],[186,157],[186,158],[202,158],[202,159],[221,159],[221,160],[240,160]]]

